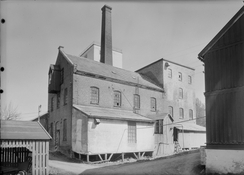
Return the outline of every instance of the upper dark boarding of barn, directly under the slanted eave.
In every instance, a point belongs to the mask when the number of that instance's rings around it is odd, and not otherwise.
[[[205,55],[206,92],[244,86],[244,16]]]

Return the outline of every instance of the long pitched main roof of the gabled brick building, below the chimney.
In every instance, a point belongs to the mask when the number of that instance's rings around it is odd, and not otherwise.
[[[102,79],[114,80],[121,83],[126,82],[131,85],[163,92],[163,89],[161,87],[150,82],[150,80],[146,79],[144,76],[140,75],[139,73],[113,67],[111,65],[100,63],[88,58],[69,55],[64,53],[63,50],[61,50],[61,52],[68,59],[71,60],[71,62],[73,63],[76,69],[75,73],[77,74],[79,73],[79,74],[94,76]]]

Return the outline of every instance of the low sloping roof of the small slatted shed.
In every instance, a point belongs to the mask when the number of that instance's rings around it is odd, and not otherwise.
[[[52,137],[39,122],[1,120],[3,140],[50,140]]]

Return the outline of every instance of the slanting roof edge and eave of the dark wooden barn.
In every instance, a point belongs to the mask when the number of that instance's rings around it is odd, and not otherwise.
[[[231,20],[219,31],[219,33],[198,54],[198,58],[204,61],[204,55],[219,41],[219,39],[244,15],[244,6],[231,18]]]

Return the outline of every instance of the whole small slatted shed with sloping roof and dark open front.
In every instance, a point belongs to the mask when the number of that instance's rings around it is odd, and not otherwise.
[[[51,136],[39,122],[1,120],[1,173],[48,175]]]

